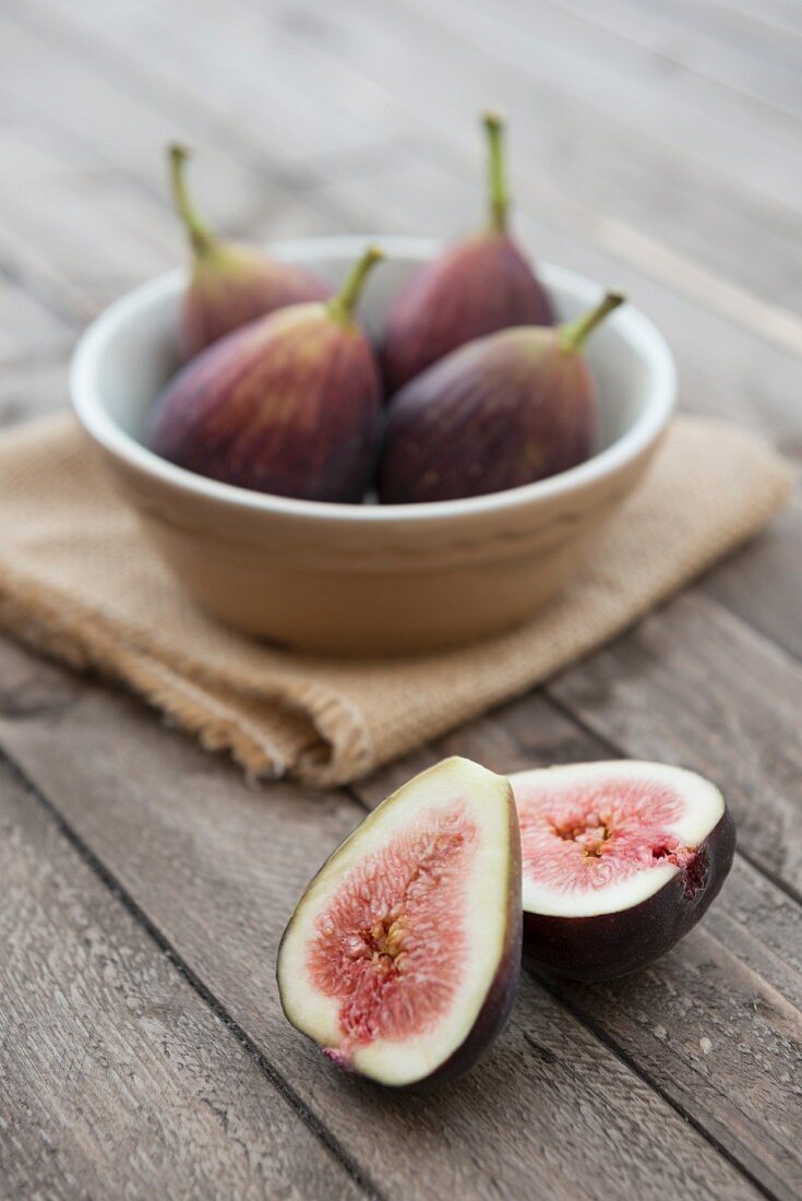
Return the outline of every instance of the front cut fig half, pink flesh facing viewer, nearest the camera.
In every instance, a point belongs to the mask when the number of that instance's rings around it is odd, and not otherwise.
[[[521,960],[509,782],[445,759],[388,796],[306,889],[276,975],[297,1029],[336,1064],[421,1088],[504,1027]]]

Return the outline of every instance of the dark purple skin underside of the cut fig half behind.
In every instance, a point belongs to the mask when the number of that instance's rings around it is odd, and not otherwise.
[[[594,984],[648,967],[693,930],[732,866],[735,824],[725,809],[689,870],[646,901],[615,913],[559,918],[523,913],[523,957],[547,975]],[[701,868],[701,878],[696,874]]]

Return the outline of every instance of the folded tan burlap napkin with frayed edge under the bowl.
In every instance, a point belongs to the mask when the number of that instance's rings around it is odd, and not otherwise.
[[[527,625],[441,655],[335,661],[262,646],[197,610],[56,414],[0,438],[0,625],[127,685],[249,772],[341,783],[606,641],[754,533],[791,483],[752,435],[681,418],[580,575]]]

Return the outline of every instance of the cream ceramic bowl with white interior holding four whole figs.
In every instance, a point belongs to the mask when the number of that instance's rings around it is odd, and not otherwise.
[[[307,238],[271,247],[339,282],[369,239]],[[388,261],[363,316],[372,333],[399,286],[438,244],[371,238]],[[562,318],[602,287],[540,267]],[[84,334],[72,401],[122,495],[197,602],[238,629],[347,655],[466,643],[528,617],[564,584],[593,532],[641,477],[674,407],[671,353],[633,305],[593,336],[602,449],[588,462],[507,492],[432,504],[324,504],[267,496],[175,467],[145,448],[154,399],[176,368],[185,273],[113,304]],[[605,281],[615,282],[615,281]]]

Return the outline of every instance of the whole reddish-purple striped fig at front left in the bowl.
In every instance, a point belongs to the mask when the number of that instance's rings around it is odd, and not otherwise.
[[[381,257],[369,247],[331,300],[281,309],[196,355],[156,401],[150,448],[259,492],[361,500],[382,381],[354,307]]]

